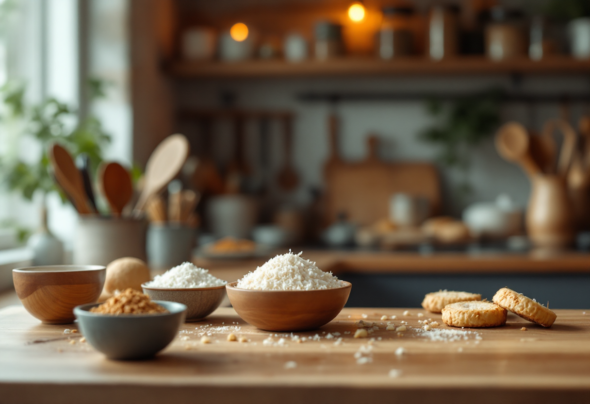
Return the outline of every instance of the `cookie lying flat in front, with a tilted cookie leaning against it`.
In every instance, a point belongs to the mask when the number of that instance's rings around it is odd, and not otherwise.
[[[506,324],[505,308],[491,302],[458,302],[442,309],[442,321],[453,327],[497,327]]]

